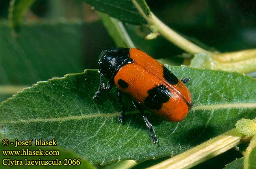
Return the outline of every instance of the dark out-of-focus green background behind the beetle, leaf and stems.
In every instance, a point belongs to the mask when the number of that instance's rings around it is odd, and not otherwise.
[[[20,33],[14,36],[7,22],[9,2],[0,1],[0,102],[38,81],[96,69],[100,52],[116,47],[98,14],[80,0],[35,0]],[[206,49],[226,52],[256,46],[254,0],[146,2],[165,24]],[[183,63],[178,56],[183,51],[164,38],[145,40],[149,33],[146,27],[124,26],[136,47],[168,63]],[[228,157],[231,162],[241,154],[231,150],[222,156],[201,164],[201,168],[224,166],[221,159]]]

